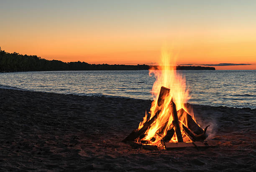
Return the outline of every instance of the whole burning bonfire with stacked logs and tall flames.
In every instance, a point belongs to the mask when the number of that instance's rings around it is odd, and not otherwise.
[[[157,149],[210,146],[204,142],[208,126],[202,129],[192,109],[185,106],[189,100],[185,78],[177,73],[168,53],[161,57],[161,64],[149,70],[149,75],[156,77],[151,109],[123,142]]]

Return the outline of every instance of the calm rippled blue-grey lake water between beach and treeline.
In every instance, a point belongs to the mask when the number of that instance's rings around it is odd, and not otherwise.
[[[256,108],[256,70],[179,71],[186,77],[189,103]],[[0,73],[0,88],[86,96],[152,99],[148,71],[44,71]]]

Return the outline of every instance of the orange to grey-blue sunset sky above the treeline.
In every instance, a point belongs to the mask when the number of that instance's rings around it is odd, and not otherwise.
[[[0,0],[0,47],[7,52],[154,64],[163,46],[177,64],[256,69],[256,1]]]

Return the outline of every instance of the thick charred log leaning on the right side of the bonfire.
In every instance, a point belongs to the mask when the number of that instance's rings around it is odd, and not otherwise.
[[[182,116],[185,116],[185,120],[187,120],[187,126],[188,128],[194,132],[195,134],[202,134],[204,130],[192,119],[192,116],[190,116],[184,109],[179,109],[177,111],[177,114],[179,116],[179,120],[182,121]],[[185,124],[185,121],[182,121]]]

